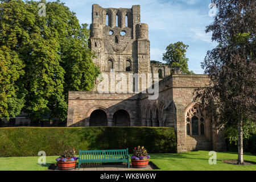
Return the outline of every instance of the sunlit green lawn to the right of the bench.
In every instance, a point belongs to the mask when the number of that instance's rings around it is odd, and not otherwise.
[[[243,166],[226,164],[224,159],[237,160],[236,152],[217,152],[217,164],[209,164],[209,151],[195,151],[181,154],[151,154],[153,162],[160,170],[167,171],[256,171],[256,165]],[[243,159],[256,162],[256,156],[245,153]]]

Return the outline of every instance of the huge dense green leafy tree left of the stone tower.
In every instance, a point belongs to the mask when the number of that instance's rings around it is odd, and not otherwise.
[[[59,1],[46,3],[46,16],[38,12],[35,1],[0,4],[0,45],[10,49],[2,59],[17,72],[9,81],[20,99],[20,106],[13,110],[15,114],[24,110],[32,121],[40,121],[44,115],[64,121],[68,91],[92,89],[99,71],[88,48],[87,25],[80,25],[75,13]],[[1,98],[6,107],[0,113],[6,115],[14,113],[7,101]]]

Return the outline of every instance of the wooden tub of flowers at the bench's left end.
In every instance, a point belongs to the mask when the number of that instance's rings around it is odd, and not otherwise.
[[[56,159],[57,166],[60,170],[72,170],[76,167],[76,156],[75,148],[65,150],[59,158]]]

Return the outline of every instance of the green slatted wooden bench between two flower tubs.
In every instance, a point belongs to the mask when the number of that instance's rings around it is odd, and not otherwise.
[[[120,150],[79,150],[79,169],[82,163],[127,162],[130,168],[128,148]]]

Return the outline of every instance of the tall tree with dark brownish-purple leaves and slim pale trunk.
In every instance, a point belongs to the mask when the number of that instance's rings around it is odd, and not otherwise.
[[[207,26],[218,46],[207,52],[202,63],[209,75],[209,86],[197,89],[195,100],[238,142],[238,164],[243,163],[243,137],[256,130],[256,2],[214,0],[218,13]]]

